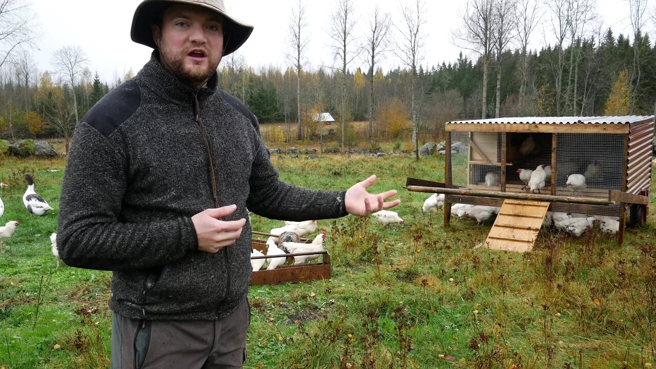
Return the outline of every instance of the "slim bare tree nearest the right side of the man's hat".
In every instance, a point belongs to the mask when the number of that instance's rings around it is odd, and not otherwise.
[[[297,101],[297,114],[298,114],[298,137],[302,139],[302,121],[300,114],[300,72],[303,70],[305,64],[303,60],[303,53],[308,45],[309,32],[305,5],[302,0],[298,0],[298,10],[292,9],[291,16],[289,16],[289,39],[287,40],[289,46],[292,47],[294,54],[288,54],[287,58],[293,61],[294,68],[296,69],[296,101]]]

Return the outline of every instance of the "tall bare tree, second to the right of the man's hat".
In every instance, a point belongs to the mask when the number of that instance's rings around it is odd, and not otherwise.
[[[353,28],[356,25],[353,18],[353,0],[339,0],[337,11],[331,17],[328,35],[333,39],[333,54],[342,62],[342,152],[344,151],[344,131],[346,131],[346,66],[357,56],[352,47],[354,43]]]

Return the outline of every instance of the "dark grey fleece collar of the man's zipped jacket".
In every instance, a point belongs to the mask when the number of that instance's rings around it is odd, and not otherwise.
[[[136,75],[156,95],[175,104],[190,106],[194,104],[194,93],[197,92],[199,100],[213,95],[216,91],[218,78],[215,74],[207,81],[206,87],[192,89],[173,76],[159,62],[157,50],[150,55],[150,60]]]

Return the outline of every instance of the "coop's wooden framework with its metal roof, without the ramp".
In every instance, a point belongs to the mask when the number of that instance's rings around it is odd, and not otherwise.
[[[451,204],[501,207],[504,199],[549,202],[548,211],[619,217],[617,237],[620,244],[624,240],[627,208],[630,210],[631,226],[644,223],[647,219],[651,192],[654,116],[524,117],[449,121],[445,124],[445,133],[445,183],[433,183],[433,186],[427,186],[425,181],[409,179],[406,186],[413,191],[445,194],[445,227],[450,225]],[[550,160],[545,164],[551,165],[554,184],[545,186],[542,194],[524,192],[516,182],[508,181],[508,178],[514,175],[508,173],[508,168],[514,165],[510,160],[511,153],[508,152],[511,149],[510,139],[527,134],[531,136],[541,134],[539,136],[545,146],[550,146]],[[466,135],[468,141],[466,142],[468,179],[464,186],[453,183],[451,145],[454,143],[452,138],[455,135],[459,135],[460,138]],[[550,135],[550,140],[546,135]],[[558,186],[558,178],[562,179],[562,175],[567,175],[558,172],[558,142],[562,142],[564,137],[584,137],[598,141],[605,137],[612,137],[616,146],[621,145],[615,155],[617,158],[615,156],[610,158],[613,163],[620,166],[613,183],[615,188],[588,186],[584,190],[584,196],[572,196],[569,194],[569,188]],[[571,146],[575,147],[575,144]],[[490,150],[490,147],[493,150]],[[565,158],[561,158],[560,163],[564,163],[563,160]],[[475,165],[485,165],[486,168],[499,167],[498,189],[490,191],[489,187],[481,186],[476,181],[471,183],[470,171]],[[462,168],[459,169],[460,175]],[[559,175],[561,177],[558,177]]]

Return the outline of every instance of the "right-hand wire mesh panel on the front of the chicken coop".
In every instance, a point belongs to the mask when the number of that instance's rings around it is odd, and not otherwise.
[[[558,133],[556,194],[607,198],[623,190],[625,135]]]

